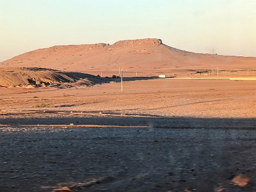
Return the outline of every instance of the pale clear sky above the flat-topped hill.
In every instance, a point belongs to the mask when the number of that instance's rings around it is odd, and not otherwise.
[[[137,38],[256,56],[255,10],[255,0],[0,0],[0,61],[53,45]]]

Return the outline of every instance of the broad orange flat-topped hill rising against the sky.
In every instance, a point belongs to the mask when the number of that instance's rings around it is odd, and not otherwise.
[[[189,72],[191,69],[255,68],[256,58],[220,56],[182,51],[161,40],[122,40],[113,45],[58,45],[38,49],[3,61],[1,67],[44,67],[111,76],[118,67],[127,75]]]

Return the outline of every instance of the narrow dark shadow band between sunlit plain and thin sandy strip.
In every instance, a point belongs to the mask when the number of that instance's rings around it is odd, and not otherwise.
[[[165,128],[165,129],[255,129],[255,118],[193,118],[193,117],[163,117],[163,116],[149,116],[140,115],[134,117],[134,115],[120,115],[117,113],[108,113],[104,116],[104,113],[97,113],[93,111],[92,114],[86,115],[88,112],[76,113],[60,113],[61,111],[44,111],[38,112],[40,117],[31,118],[1,118],[0,124],[8,124],[13,126],[19,125],[69,125],[70,123],[76,125],[84,124],[97,124],[97,125],[122,125],[122,126],[136,126],[136,125],[148,125],[153,128]],[[80,111],[81,112],[81,111]],[[74,114],[76,113],[76,115]],[[35,116],[36,113],[31,115]],[[44,115],[51,115],[52,117],[44,118]],[[73,115],[72,115],[73,114]],[[7,116],[6,114],[3,116]],[[19,115],[19,114],[15,114]],[[70,116],[72,115],[72,116]],[[107,116],[108,115],[108,116]],[[111,116],[109,116],[111,115]],[[118,116],[115,116],[118,115]]]

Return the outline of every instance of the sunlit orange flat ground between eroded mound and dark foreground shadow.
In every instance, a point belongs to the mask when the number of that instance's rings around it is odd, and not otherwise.
[[[72,111],[210,118],[255,117],[255,81],[125,81],[123,93],[120,92],[120,83],[70,89],[0,89],[2,114],[51,110],[56,113]]]

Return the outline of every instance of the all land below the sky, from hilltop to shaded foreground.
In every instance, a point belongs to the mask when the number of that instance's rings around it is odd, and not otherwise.
[[[255,61],[156,39],[4,61],[0,191],[256,191]]]

